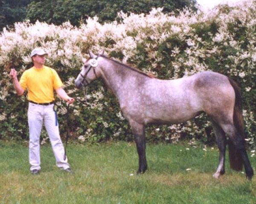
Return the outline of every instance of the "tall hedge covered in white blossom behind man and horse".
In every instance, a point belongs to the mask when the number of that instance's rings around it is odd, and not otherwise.
[[[211,11],[179,15],[163,14],[161,8],[150,14],[119,13],[121,23],[98,23],[89,18],[79,28],[46,23],[16,23],[13,30],[0,34],[0,138],[27,139],[26,96],[17,97],[9,71],[13,65],[18,77],[32,66],[29,57],[35,47],[44,48],[46,65],[55,68],[65,90],[76,98],[70,105],[71,135],[79,142],[132,140],[131,129],[114,96],[101,81],[93,82],[84,93],[74,86],[82,59],[88,50],[105,50],[109,57],[130,64],[161,79],[176,79],[200,71],[225,74],[241,87],[244,130],[248,143],[256,145],[256,2],[238,6],[218,6]],[[65,135],[66,105],[57,99],[61,133]],[[149,127],[147,139],[177,142],[185,136],[209,142],[212,129],[206,116],[179,125]]]

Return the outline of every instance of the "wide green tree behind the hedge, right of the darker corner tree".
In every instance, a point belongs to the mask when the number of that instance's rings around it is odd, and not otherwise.
[[[61,25],[70,21],[79,26],[88,17],[99,17],[100,23],[117,20],[117,13],[148,13],[152,7],[163,7],[169,13],[185,7],[195,8],[195,0],[40,0],[32,1],[28,6],[26,18],[35,23],[36,20]],[[176,11],[177,12],[177,11]]]

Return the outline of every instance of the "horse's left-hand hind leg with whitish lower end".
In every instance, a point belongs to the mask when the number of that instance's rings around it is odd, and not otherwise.
[[[219,178],[221,175],[225,173],[225,153],[226,153],[226,145],[227,139],[222,128],[212,120],[212,127],[215,133],[216,142],[218,144],[219,149],[219,164],[218,168],[212,176],[215,178]]]

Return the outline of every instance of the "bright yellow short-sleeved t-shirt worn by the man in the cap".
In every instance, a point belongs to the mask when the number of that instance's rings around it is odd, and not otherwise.
[[[44,66],[24,71],[20,85],[24,90],[28,89],[29,101],[48,103],[54,100],[53,91],[62,87],[63,83],[54,69]]]

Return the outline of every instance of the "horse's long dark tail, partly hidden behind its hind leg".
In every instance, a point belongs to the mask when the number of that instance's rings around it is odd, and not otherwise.
[[[242,137],[241,140],[244,142],[244,130],[243,130],[243,115],[242,115],[242,100],[241,100],[241,91],[239,85],[233,80],[229,79],[230,84],[233,86],[235,91],[235,106],[233,112],[233,122],[238,131],[237,136]],[[240,140],[240,139],[239,139]],[[235,144],[231,139],[228,141],[229,147],[229,160],[230,168],[233,170],[241,171],[243,169],[243,161],[241,158],[241,153],[236,148]]]

